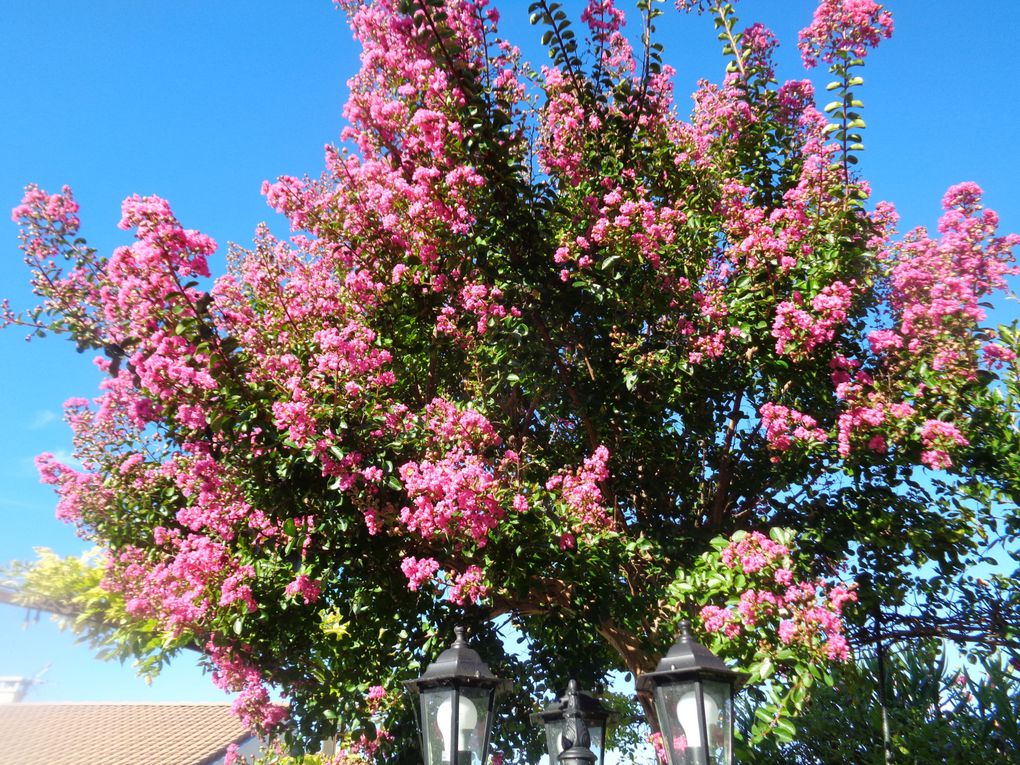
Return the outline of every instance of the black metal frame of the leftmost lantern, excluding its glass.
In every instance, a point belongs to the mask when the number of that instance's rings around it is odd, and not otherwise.
[[[510,683],[494,675],[489,665],[481,660],[477,652],[467,645],[464,638],[464,627],[454,627],[456,640],[453,645],[439,655],[439,657],[425,667],[425,671],[420,677],[413,680],[405,680],[404,687],[414,698],[415,717],[418,722],[418,732],[421,741],[421,753],[425,765],[486,765],[489,759],[489,745],[492,741],[494,710],[497,695],[504,691]],[[439,721],[427,719],[426,696],[430,696],[437,691],[447,691],[450,693],[448,702],[451,706],[449,730],[442,730]],[[465,693],[467,692],[467,693]],[[475,704],[475,699],[471,698],[479,693],[488,694],[482,723],[482,741],[478,748],[479,762],[474,764],[470,761],[470,750],[461,749],[461,736],[459,727],[459,716],[462,701],[468,704]],[[480,708],[477,709],[480,712]],[[437,711],[437,717],[439,712]],[[450,760],[443,760],[442,757],[434,758],[434,746],[430,741],[429,731],[439,730],[443,741],[448,743]],[[465,760],[465,755],[467,759]]]

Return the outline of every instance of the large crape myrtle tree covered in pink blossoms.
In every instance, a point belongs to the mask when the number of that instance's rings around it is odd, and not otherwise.
[[[731,3],[536,2],[540,70],[488,0],[338,4],[361,68],[322,175],[264,185],[288,238],[213,278],[158,197],[108,256],[67,189],[14,210],[42,302],[6,321],[106,373],[65,405],[79,464],[39,467],[105,551],[108,640],[196,647],[245,722],[355,759],[417,756],[399,681],[458,622],[514,680],[518,759],[534,698],[649,670],[683,617],[761,686],[755,736],[854,641],[1015,645],[1015,580],[984,614],[966,572],[1017,531],[1017,338],[983,301],[1020,238],[972,183],[934,236],[869,199],[887,10],[819,4],[820,109]],[[655,24],[693,10],[726,64],[685,118]]]

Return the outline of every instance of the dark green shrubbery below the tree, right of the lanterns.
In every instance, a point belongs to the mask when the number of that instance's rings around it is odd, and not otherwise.
[[[976,672],[954,671],[936,642],[908,643],[885,657],[889,757],[896,763],[1008,765],[1020,758],[1020,674],[1002,655]],[[797,741],[762,742],[742,762],[884,765],[881,683],[874,653],[842,666],[798,720]],[[751,710],[745,710],[745,717]],[[838,732],[833,729],[838,720]]]

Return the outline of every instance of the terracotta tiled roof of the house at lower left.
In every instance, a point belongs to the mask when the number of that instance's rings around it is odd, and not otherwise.
[[[0,765],[201,765],[251,736],[228,704],[0,705]]]

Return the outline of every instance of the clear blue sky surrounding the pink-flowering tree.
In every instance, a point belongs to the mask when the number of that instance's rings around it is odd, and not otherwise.
[[[526,5],[498,3],[504,31],[544,63]],[[1004,228],[1020,231],[1020,57],[1012,52],[1020,3],[989,0],[980,12],[950,0],[887,5],[897,32],[869,60],[860,92],[869,124],[861,167],[875,199],[894,201],[904,227],[932,226],[946,188],[972,180]],[[813,8],[812,0],[737,6],[744,22],[762,20],[778,34],[780,78],[804,76],[795,41]],[[685,111],[700,78],[719,79],[719,44],[707,17],[668,12],[660,34]],[[215,271],[228,241],[250,241],[255,224],[271,218],[263,178],[318,172],[322,146],[340,132],[357,53],[328,0],[0,3],[0,208],[14,206],[30,182],[69,184],[84,235],[109,252],[126,241],[115,226],[120,200],[158,194],[186,226],[220,244]],[[824,72],[815,79],[824,82]],[[17,230],[5,212],[0,243],[0,296],[28,306]],[[997,307],[1000,320],[1018,315],[1016,303]],[[53,496],[32,458],[69,452],[60,405],[93,395],[98,377],[61,339],[26,344],[22,332],[8,329],[0,354],[0,562],[31,558],[34,546],[78,552],[83,543],[53,518]],[[0,606],[0,675],[52,664],[36,700],[223,698],[190,660],[147,687],[130,669],[72,648],[45,616],[22,630],[23,617]]]

